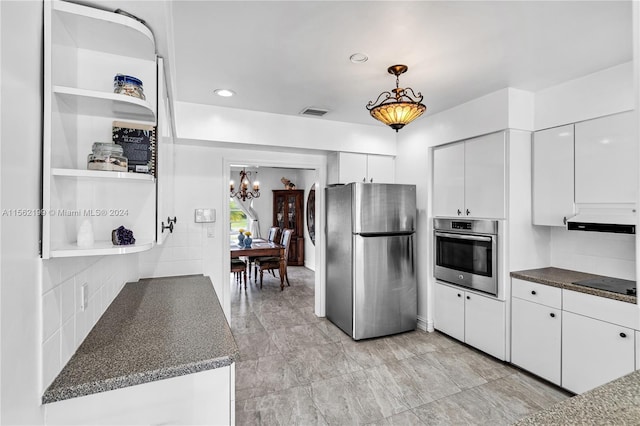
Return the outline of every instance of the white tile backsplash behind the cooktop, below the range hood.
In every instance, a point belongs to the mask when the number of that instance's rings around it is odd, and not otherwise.
[[[552,228],[551,266],[635,281],[635,235]]]

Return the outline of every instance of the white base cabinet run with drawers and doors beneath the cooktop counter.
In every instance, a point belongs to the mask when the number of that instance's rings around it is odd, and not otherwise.
[[[575,393],[640,367],[637,305],[513,278],[511,362]]]

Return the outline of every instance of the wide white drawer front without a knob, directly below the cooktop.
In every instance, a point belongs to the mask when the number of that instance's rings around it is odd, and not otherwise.
[[[637,330],[638,306],[633,303],[562,290],[563,310]]]

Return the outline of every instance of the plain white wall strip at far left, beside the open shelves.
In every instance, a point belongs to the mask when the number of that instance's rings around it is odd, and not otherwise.
[[[0,205],[40,206],[42,131],[41,2],[0,2],[2,128]],[[19,41],[19,42],[18,42]],[[2,215],[2,424],[41,424],[40,223]]]

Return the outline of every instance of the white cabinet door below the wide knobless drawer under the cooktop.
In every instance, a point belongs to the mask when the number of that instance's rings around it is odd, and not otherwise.
[[[586,392],[635,368],[634,330],[564,312],[562,387]]]

